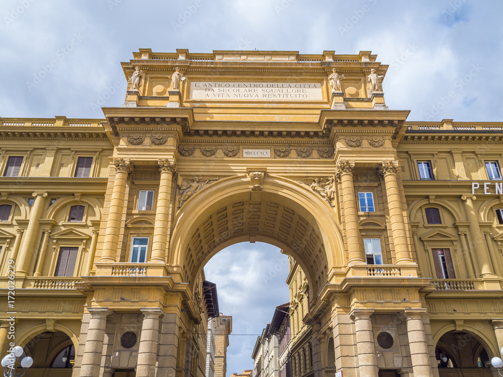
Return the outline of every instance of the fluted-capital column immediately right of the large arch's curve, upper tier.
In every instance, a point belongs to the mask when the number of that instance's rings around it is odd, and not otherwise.
[[[365,255],[362,248],[355,185],[353,183],[354,167],[354,161],[339,161],[336,165],[336,178],[341,183],[342,188],[349,264],[364,264]]]

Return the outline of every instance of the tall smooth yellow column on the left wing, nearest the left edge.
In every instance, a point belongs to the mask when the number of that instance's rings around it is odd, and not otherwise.
[[[33,193],[32,197],[34,197],[35,200],[33,201],[33,206],[30,212],[30,221],[28,222],[28,227],[26,228],[25,236],[23,237],[24,241],[21,247],[21,252],[19,253],[18,260],[16,261],[16,276],[26,276],[28,274],[28,270],[30,269],[32,256],[34,255],[33,248],[35,247],[35,242],[38,238],[39,220],[44,211],[47,193]]]

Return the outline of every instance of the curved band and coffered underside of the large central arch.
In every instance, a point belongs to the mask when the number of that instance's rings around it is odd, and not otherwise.
[[[231,177],[192,196],[178,211],[169,263],[179,265],[194,286],[205,263],[238,242],[265,242],[294,257],[315,296],[331,268],[345,263],[337,213],[298,183],[269,175],[260,200],[250,196],[250,181]]]

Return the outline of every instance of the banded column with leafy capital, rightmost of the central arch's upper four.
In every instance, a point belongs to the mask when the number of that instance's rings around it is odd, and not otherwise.
[[[400,192],[398,191],[398,182],[396,181],[397,167],[398,161],[383,161],[377,168],[377,171],[384,177],[391,234],[393,235],[393,244],[395,245],[396,264],[403,264],[411,263],[412,260],[410,259]]]

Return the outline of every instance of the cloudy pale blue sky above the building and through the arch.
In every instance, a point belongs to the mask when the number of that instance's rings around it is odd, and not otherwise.
[[[503,115],[496,0],[3,0],[0,13],[3,118],[102,118],[101,106],[124,102],[120,62],[138,48],[372,50],[390,65],[386,104],[411,110],[410,121]],[[235,334],[260,333],[288,300],[286,268],[264,279],[285,258],[268,245],[237,245],[207,265]],[[232,337],[229,373],[251,367],[254,343]]]

